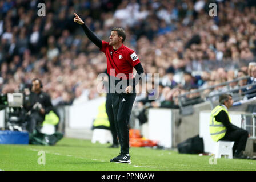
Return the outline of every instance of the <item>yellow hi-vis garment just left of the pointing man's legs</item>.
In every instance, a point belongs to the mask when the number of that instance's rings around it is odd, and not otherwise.
[[[106,102],[98,107],[97,117],[93,121],[93,129],[109,129],[110,123],[106,113]]]

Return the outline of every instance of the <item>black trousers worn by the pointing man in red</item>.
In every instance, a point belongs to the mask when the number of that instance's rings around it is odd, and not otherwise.
[[[129,128],[128,123],[133,109],[136,93],[111,93],[112,109],[115,129],[121,147],[121,154],[129,154]],[[109,105],[109,104],[107,104]]]

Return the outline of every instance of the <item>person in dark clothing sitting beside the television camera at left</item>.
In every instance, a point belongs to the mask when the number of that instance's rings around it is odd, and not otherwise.
[[[49,94],[42,91],[42,81],[34,78],[31,86],[30,104],[25,106],[25,109],[29,111],[29,133],[33,133],[45,120],[45,115],[53,110]]]

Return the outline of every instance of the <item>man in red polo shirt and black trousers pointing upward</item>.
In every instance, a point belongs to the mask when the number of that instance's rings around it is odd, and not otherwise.
[[[111,93],[111,99],[107,102],[111,102],[112,106],[111,113],[108,111],[107,114],[114,115],[115,127],[121,146],[120,155],[111,159],[110,162],[131,163],[128,122],[136,97],[135,85],[138,84],[139,78],[144,72],[142,65],[136,53],[123,45],[126,34],[122,28],[113,28],[109,42],[105,42],[97,38],[76,13],[74,15],[74,22],[82,25],[87,37],[107,57],[107,75],[109,76],[109,90]],[[135,78],[133,78],[133,67],[137,71]],[[123,84],[118,84],[120,81],[122,83],[126,82],[125,88],[122,88]],[[119,88],[118,85],[120,85]]]

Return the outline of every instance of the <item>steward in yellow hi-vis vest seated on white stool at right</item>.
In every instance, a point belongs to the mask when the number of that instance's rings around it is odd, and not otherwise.
[[[233,99],[230,94],[222,94],[219,96],[219,104],[211,111],[210,117],[210,134],[214,142],[234,141],[233,156],[236,159],[246,159],[243,155],[245,151],[248,131],[241,129],[231,123],[231,119],[227,109],[233,106]]]

